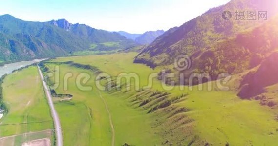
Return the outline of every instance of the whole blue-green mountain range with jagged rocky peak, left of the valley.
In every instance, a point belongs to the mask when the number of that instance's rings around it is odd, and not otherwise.
[[[65,19],[31,22],[8,14],[0,16],[0,64],[133,46],[138,44],[118,33],[71,24]]]

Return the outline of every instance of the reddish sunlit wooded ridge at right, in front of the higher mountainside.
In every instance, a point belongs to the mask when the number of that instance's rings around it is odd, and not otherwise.
[[[187,74],[209,73],[216,79],[219,73],[243,73],[257,67],[278,49],[277,18],[195,52]]]

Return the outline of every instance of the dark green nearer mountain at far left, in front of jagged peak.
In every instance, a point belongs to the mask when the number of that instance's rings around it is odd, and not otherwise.
[[[66,55],[88,48],[81,38],[40,22],[0,16],[0,60],[5,62]]]

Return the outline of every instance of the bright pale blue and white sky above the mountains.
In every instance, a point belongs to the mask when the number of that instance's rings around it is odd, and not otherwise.
[[[65,18],[107,31],[168,30],[230,0],[0,0],[0,15],[28,21]]]

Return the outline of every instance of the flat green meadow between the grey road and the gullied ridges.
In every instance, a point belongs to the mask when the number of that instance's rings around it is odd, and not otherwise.
[[[54,64],[46,64],[51,71]],[[73,73],[69,79],[68,91],[63,90],[62,76],[65,73]],[[75,78],[79,73],[90,73],[87,70],[60,65],[60,86],[57,93],[73,95],[71,101],[57,102],[55,108],[61,118],[61,124],[64,136],[64,145],[93,145],[108,146],[111,145],[111,127],[105,104],[100,98],[97,89],[93,91],[80,91],[75,86]],[[90,73],[94,76],[93,73]],[[94,79],[91,79],[87,85],[93,85]],[[134,145],[156,144],[160,139],[151,131],[151,126],[146,122],[151,122],[151,116],[146,115],[141,110],[136,110],[127,106],[127,102],[118,99],[118,96],[110,96],[103,93],[107,105],[112,114],[112,121],[115,127],[115,146],[123,145],[125,142]],[[120,107],[120,108],[119,108]],[[136,138],[134,138],[136,137]]]

